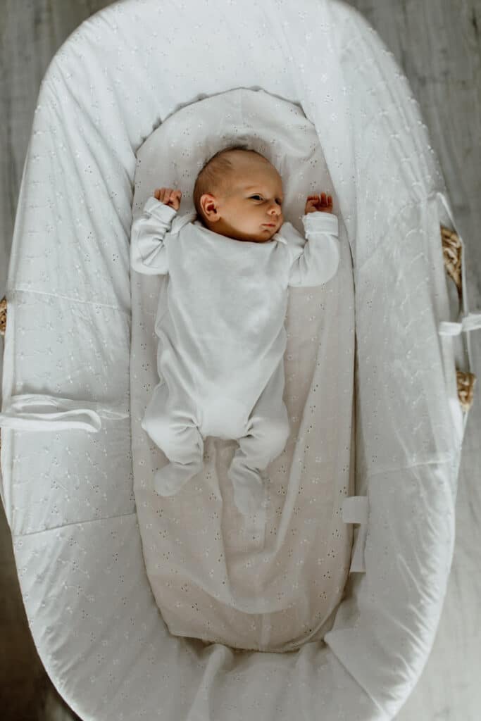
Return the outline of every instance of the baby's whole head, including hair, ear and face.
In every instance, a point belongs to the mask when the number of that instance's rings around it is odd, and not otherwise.
[[[267,158],[243,146],[213,155],[195,180],[193,196],[204,226],[236,240],[268,242],[284,222],[281,176]]]

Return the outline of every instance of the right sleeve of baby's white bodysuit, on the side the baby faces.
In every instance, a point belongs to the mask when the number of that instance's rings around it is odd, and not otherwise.
[[[339,265],[339,221],[332,213],[315,211],[302,216],[302,222],[307,241],[291,265],[288,285],[322,286],[335,275]]]

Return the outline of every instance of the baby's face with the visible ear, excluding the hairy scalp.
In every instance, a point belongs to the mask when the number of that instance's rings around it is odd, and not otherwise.
[[[235,164],[229,190],[206,196],[208,227],[236,240],[269,242],[284,222],[282,178],[262,159],[242,157]]]

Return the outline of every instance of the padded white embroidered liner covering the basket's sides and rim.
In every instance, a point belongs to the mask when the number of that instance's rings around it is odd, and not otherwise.
[[[334,0],[247,5],[113,4],[69,37],[40,86],[6,293],[1,495],[37,650],[85,720],[392,719],[444,601],[467,417],[455,363],[470,370],[475,327],[466,293],[449,306],[444,179],[405,76],[360,14]],[[136,151],[176,110],[241,87],[299,105],[315,126],[353,260],[365,572],[350,575],[324,640],[294,653],[169,634],[133,492]],[[34,409],[38,397],[83,418],[89,408],[101,427],[57,428],[45,404],[43,433],[5,425],[32,395]]]

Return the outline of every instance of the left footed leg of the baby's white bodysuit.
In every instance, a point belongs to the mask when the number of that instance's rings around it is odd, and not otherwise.
[[[162,496],[175,495],[203,469],[203,437],[188,399],[169,392],[166,383],[159,384],[141,426],[169,459],[155,474],[154,490]]]

